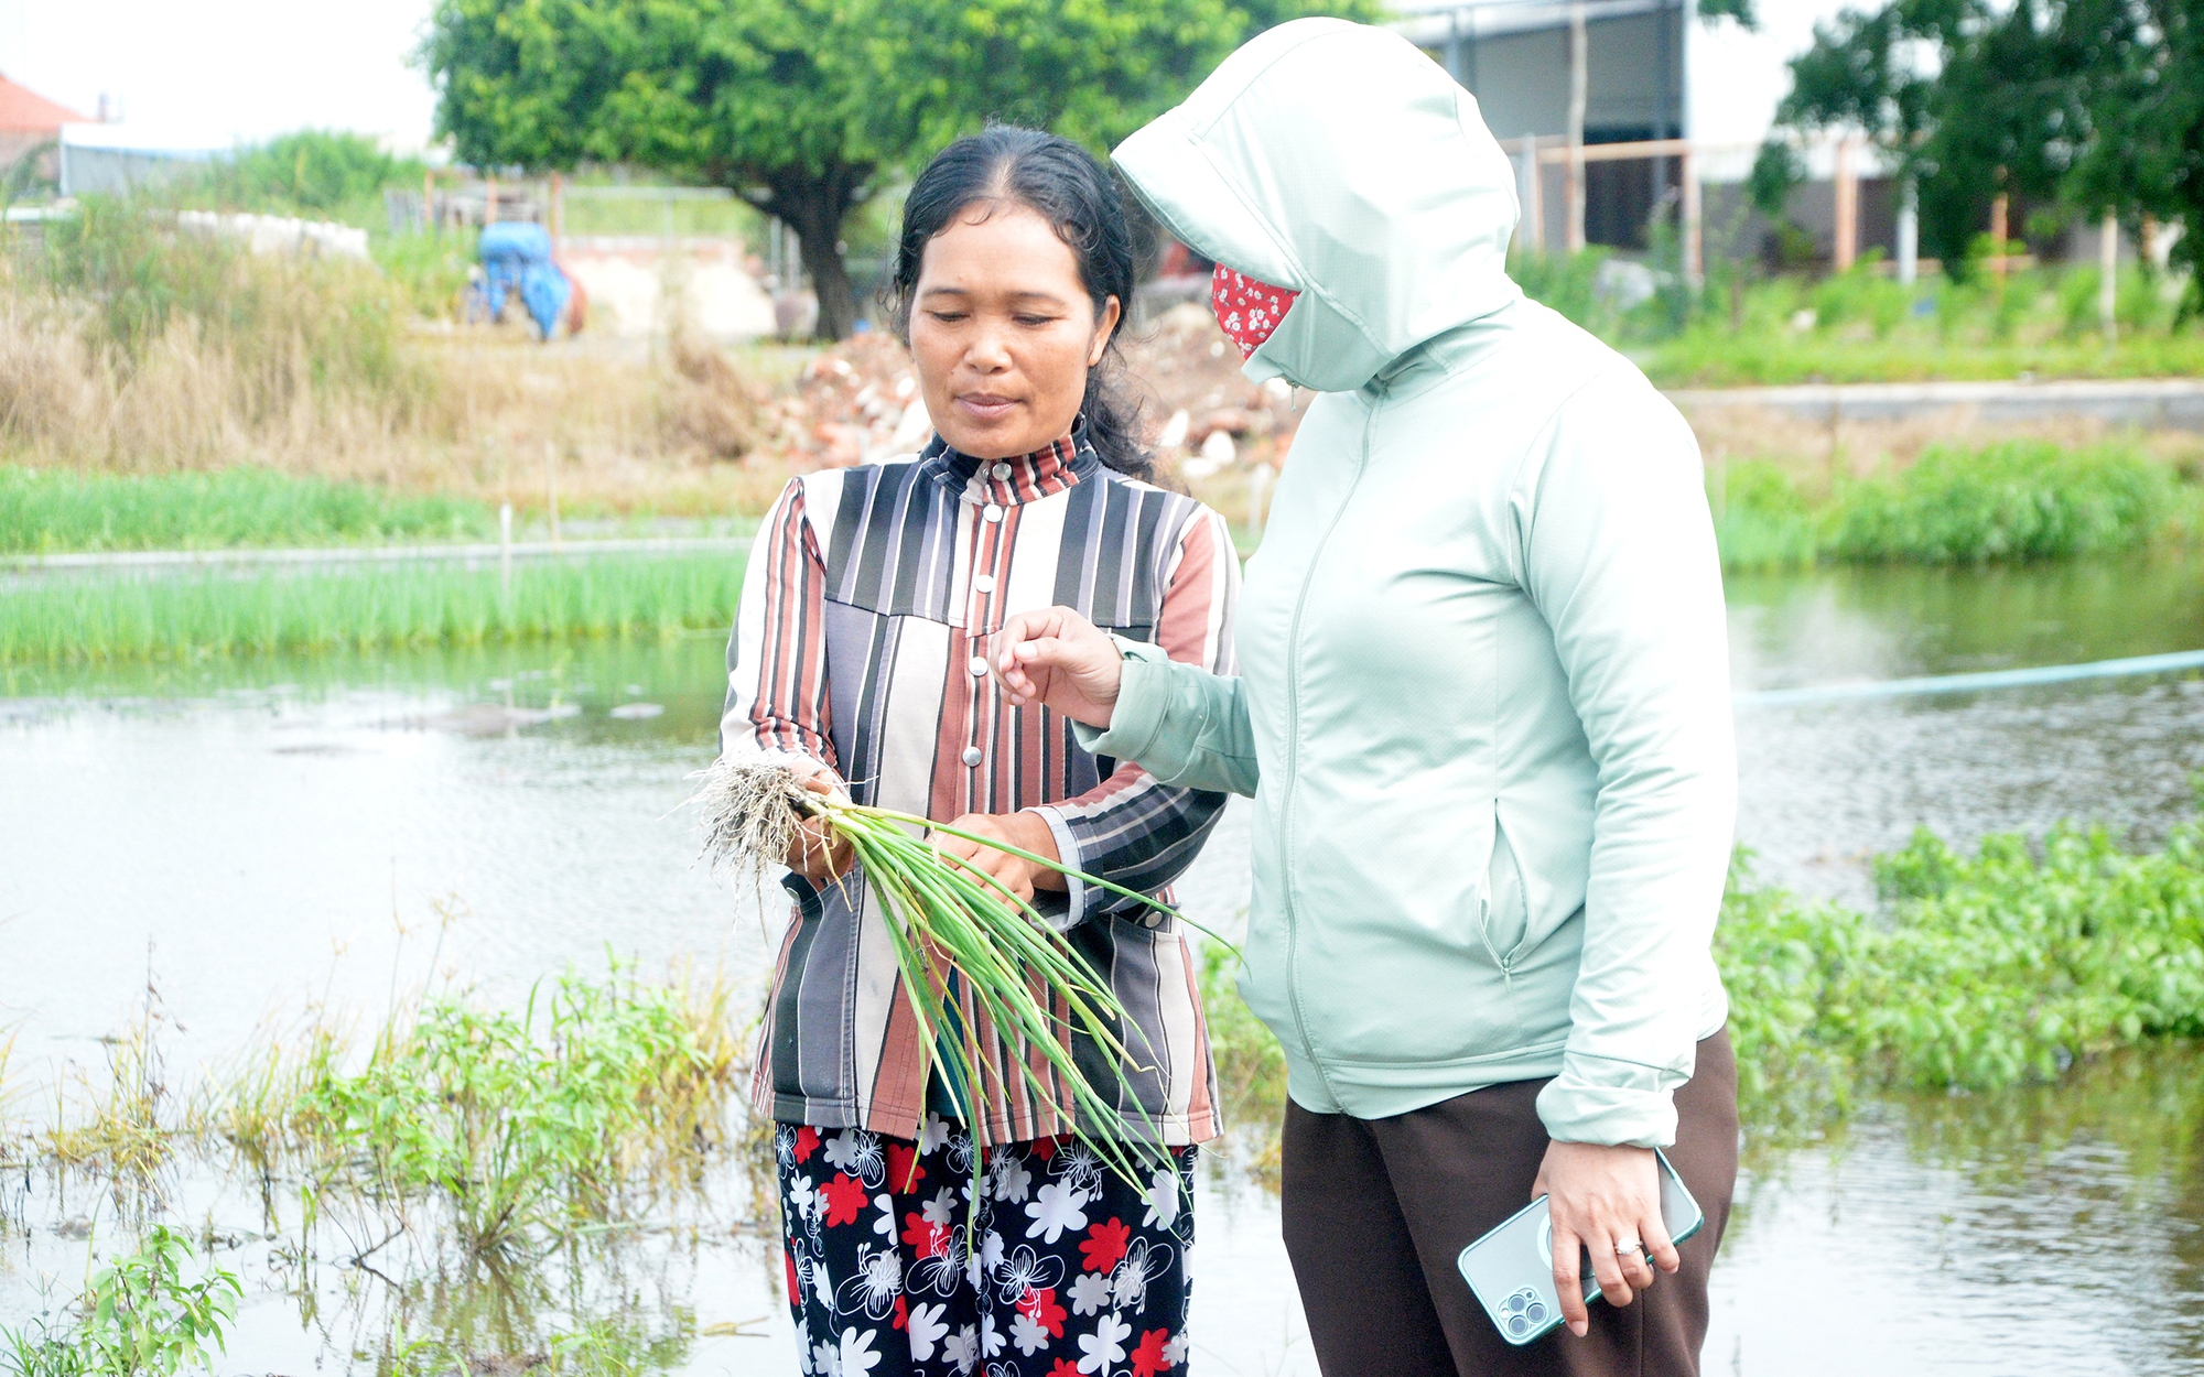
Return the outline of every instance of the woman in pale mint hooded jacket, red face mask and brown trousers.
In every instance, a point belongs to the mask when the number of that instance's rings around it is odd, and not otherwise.
[[[1272,29],[1115,161],[1217,262],[1245,375],[1318,397],[1239,676],[1076,608],[1009,619],[990,657],[1087,749],[1254,798],[1241,994],[1287,1055],[1316,1355],[1697,1373],[1737,1172],[1710,956],[1735,749],[1690,430],[1508,280],[1514,170],[1393,33]],[[1706,1214],[1684,1243],[1655,1148]],[[1541,1194],[1569,1333],[1514,1346],[1457,1256]],[[1578,1300],[1587,1267],[1609,1304]]]

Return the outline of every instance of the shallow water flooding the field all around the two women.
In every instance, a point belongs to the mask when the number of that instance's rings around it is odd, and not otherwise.
[[[2200,584],[2184,566],[1737,579],[1735,681],[2204,648]],[[267,1020],[313,1000],[372,1013],[432,972],[520,998],[617,952],[760,983],[756,903],[690,868],[670,815],[712,751],[719,654],[696,639],[0,681],[11,1082],[97,1066],[99,1038],[148,1009],[187,1080]],[[2151,839],[2189,806],[2200,723],[2193,679],[1741,709],[1741,835],[1763,872],[1851,897],[1860,855],[1915,824],[1970,837],[2083,815]],[[1236,919],[1241,811],[1184,888],[1206,921]],[[2162,1053],[2025,1095],[1893,1099],[1843,1141],[1757,1161],[1717,1273],[1708,1370],[2197,1370],[2200,1071]],[[37,1313],[46,1282],[66,1293],[86,1234],[104,1240],[123,1207],[84,1183],[13,1194],[0,1322]],[[346,1366],[377,1326],[458,1324],[480,1293],[434,1269],[392,1265],[386,1284],[344,1258],[284,1258],[258,1194],[209,1170],[183,1172],[168,1207],[214,1221],[225,1265],[253,1287],[223,1370]],[[1314,1373],[1274,1199],[1212,1163],[1201,1212],[1203,1368]],[[758,1214],[730,1174],[712,1207],[531,1280],[525,1326],[540,1340],[617,1293],[679,1340],[677,1366],[789,1370]],[[302,1311],[300,1293],[320,1300]]]

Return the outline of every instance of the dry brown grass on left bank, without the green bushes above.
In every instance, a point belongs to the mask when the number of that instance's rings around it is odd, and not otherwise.
[[[240,368],[192,326],[137,366],[95,353],[57,313],[0,297],[0,434],[15,463],[101,471],[218,469],[386,483],[522,511],[758,513],[789,465],[758,454],[756,386],[721,350],[624,357],[580,339],[421,335],[408,397],[324,394],[253,416]],[[555,465],[555,476],[549,465]]]

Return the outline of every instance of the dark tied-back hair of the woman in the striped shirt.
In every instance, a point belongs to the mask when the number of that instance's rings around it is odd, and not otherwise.
[[[888,319],[910,344],[910,297],[919,289],[926,245],[968,205],[990,200],[1023,205],[1047,220],[1080,262],[1080,284],[1095,315],[1109,297],[1120,311],[1133,308],[1133,231],[1111,174],[1071,139],[998,123],[950,143],[926,165],[904,196],[904,236],[895,249],[895,284],[888,289]],[[1155,460],[1139,443],[1139,403],[1124,394],[1124,357],[1117,335],[1102,361],[1087,370],[1087,443],[1109,467],[1133,478],[1153,478]]]

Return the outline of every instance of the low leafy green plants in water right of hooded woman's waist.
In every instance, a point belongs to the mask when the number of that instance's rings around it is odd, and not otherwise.
[[[1759,886],[1739,855],[1715,956],[1748,1124],[1805,1128],[1884,1088],[1992,1091],[2162,1038],[2204,1038],[2204,817],[2160,850],[2103,828],[1922,831],[1876,859],[1880,912]],[[1285,1058],[1212,950],[1201,978],[1228,1108],[1274,1117]]]

